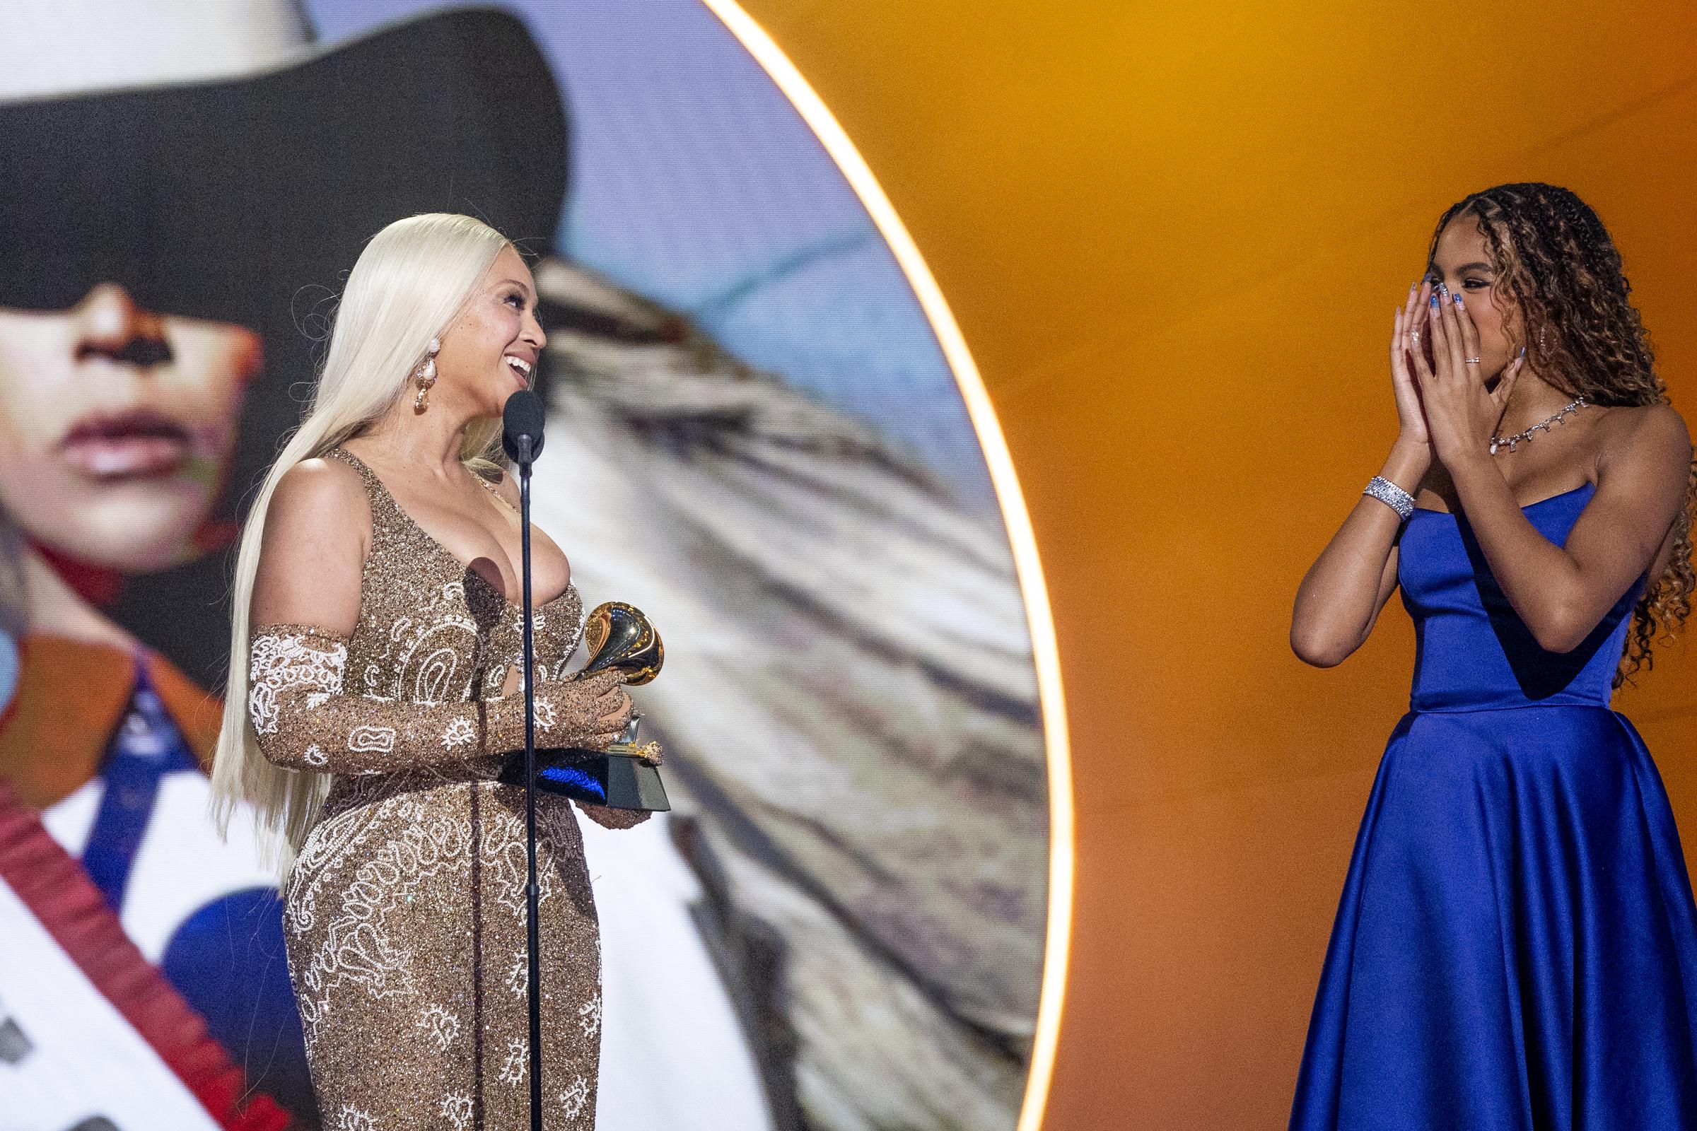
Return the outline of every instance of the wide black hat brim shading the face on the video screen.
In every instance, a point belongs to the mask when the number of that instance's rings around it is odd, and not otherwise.
[[[244,431],[265,451],[248,444],[241,487],[299,417],[304,312],[373,232],[467,212],[541,249],[567,188],[560,88],[512,15],[436,12],[280,54],[248,75],[0,102],[0,307],[63,310],[119,283],[149,310],[260,331]]]

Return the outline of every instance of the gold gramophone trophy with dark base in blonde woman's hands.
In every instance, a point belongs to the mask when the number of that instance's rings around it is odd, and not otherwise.
[[[626,687],[641,687],[660,673],[665,646],[640,609],[618,600],[596,605],[584,627],[589,663],[568,677],[580,680],[596,671],[624,673]],[[670,809],[655,746],[638,744],[641,716],[631,712],[624,733],[608,749],[555,746],[536,751],[536,788],[609,809]],[[524,760],[509,761],[502,782],[524,783]]]

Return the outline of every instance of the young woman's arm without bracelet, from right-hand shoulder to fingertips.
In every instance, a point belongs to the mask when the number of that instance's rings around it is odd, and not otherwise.
[[[1571,651],[1666,543],[1690,476],[1685,421],[1668,405],[1617,410],[1600,421],[1597,490],[1566,543],[1556,546],[1521,510],[1490,456],[1492,429],[1514,375],[1485,392],[1463,358],[1473,329],[1466,312],[1454,302],[1441,309],[1432,319],[1432,368],[1420,371],[1437,458],[1492,577],[1532,639],[1546,651]]]

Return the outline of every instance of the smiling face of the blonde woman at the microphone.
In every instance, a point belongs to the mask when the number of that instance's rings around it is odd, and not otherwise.
[[[453,398],[468,415],[501,415],[507,397],[529,388],[546,343],[536,281],[519,253],[504,248],[441,336],[431,402]]]

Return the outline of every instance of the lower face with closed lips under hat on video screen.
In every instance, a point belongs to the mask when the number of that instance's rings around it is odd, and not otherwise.
[[[0,507],[34,541],[143,573],[197,556],[260,337],[141,309],[0,307]]]

